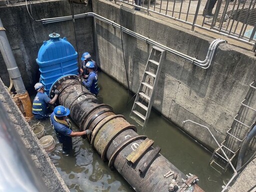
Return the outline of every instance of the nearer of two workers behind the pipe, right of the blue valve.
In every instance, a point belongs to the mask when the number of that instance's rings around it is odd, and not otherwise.
[[[89,74],[87,79],[82,80],[82,84],[86,86],[86,88],[93,94],[97,95],[99,91],[98,87],[98,75],[95,72],[94,62],[88,61],[85,65],[86,69],[88,70]]]

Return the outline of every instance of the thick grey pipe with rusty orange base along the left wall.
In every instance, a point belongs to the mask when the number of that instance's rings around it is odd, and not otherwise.
[[[3,60],[7,67],[7,71],[9,73],[10,82],[13,83],[15,91],[17,92],[16,95],[12,96],[13,100],[19,107],[20,111],[22,112],[26,120],[29,120],[33,116],[32,104],[31,104],[28,92],[26,91],[24,83],[22,81],[15,58],[11,51],[1,19],[0,19],[0,52],[2,54]]]

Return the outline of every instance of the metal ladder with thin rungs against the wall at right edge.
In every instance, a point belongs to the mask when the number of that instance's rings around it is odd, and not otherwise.
[[[230,161],[232,161],[238,153],[242,141],[255,123],[256,109],[249,106],[252,105],[253,100],[255,100],[255,85],[255,80],[249,84],[249,90],[247,91],[245,98],[240,102],[241,105],[237,114],[233,117],[233,123],[226,131],[226,138],[220,144]],[[220,147],[217,147],[213,151],[209,164],[219,173],[223,173],[227,169],[228,160],[222,154]],[[218,168],[220,168],[220,170]]]

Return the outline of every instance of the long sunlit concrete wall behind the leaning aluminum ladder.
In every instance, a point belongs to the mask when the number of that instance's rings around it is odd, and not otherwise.
[[[93,12],[120,22],[120,4],[93,0],[92,7]],[[125,6],[121,9],[121,24],[200,60],[204,60],[213,40]],[[101,69],[127,86],[120,30],[96,20],[95,33]],[[129,87],[137,92],[151,46],[125,33],[123,46]],[[249,89],[248,85],[255,78],[255,62],[253,53],[227,43],[218,46],[208,69],[167,52],[153,107],[203,145],[215,149],[217,145],[207,129],[192,123],[182,124],[182,121],[191,119],[209,127],[222,142]]]

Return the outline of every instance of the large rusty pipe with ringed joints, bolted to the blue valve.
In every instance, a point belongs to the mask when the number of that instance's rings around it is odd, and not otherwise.
[[[82,91],[76,75],[66,75],[56,80],[50,89],[51,97],[55,88],[60,90],[59,104],[70,109],[70,116],[79,129],[92,130],[87,139],[101,159],[108,161],[110,169],[115,168],[136,191],[181,192],[187,188],[189,191],[203,191],[196,184],[198,178],[195,175],[184,175],[156,151],[157,147],[143,145],[148,138],[138,135],[136,127],[129,124],[124,116],[115,114],[111,106],[100,104],[85,87]],[[151,158],[153,154],[154,158]],[[128,156],[137,158],[127,160]],[[169,170],[174,175],[166,176]],[[175,183],[174,188],[171,183]]]

